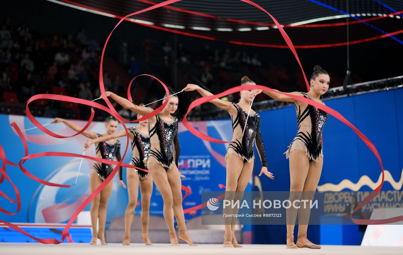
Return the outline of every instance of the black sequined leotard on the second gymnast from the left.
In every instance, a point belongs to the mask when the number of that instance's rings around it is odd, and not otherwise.
[[[131,141],[133,158],[131,158],[130,164],[141,169],[147,169],[147,167],[144,165],[144,161],[146,161],[148,156],[150,155],[150,137],[143,136],[134,127],[128,128],[127,131],[129,131],[129,133],[131,133],[134,137]],[[148,176],[148,173],[143,170],[135,168],[132,169],[134,171],[137,171],[141,180]],[[122,171],[120,171],[119,178],[122,179]]]

